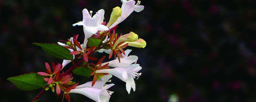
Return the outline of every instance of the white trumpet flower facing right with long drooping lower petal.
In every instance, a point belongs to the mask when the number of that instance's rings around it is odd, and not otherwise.
[[[123,80],[126,82],[126,90],[128,94],[130,94],[131,88],[133,91],[135,91],[135,82],[134,78],[139,77],[141,73],[137,73],[142,69],[139,64],[132,64],[127,66],[126,68],[113,68],[113,69],[101,69],[101,70],[96,70],[95,73],[109,73],[112,74],[119,79]]]

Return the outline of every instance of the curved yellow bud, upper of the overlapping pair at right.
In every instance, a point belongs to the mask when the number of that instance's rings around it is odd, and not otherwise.
[[[133,42],[133,41],[136,41],[136,40],[138,40],[138,35],[135,34],[135,33],[133,33],[133,32],[130,32],[130,33],[128,33],[128,34],[125,34],[125,35],[120,36],[120,37],[116,40],[116,42],[115,42],[115,44],[113,45],[112,48],[113,48],[113,49],[116,48],[116,45],[119,44],[120,42],[124,42],[124,41]]]

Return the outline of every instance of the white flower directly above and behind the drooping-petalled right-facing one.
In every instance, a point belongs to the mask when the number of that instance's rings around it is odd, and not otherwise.
[[[108,66],[110,66],[110,67],[126,68],[127,66],[131,65],[133,62],[136,62],[138,60],[138,56],[136,56],[136,55],[128,56],[131,51],[132,51],[131,49],[127,49],[127,50],[124,51],[125,55],[122,54],[123,58],[120,58],[121,63],[118,61],[118,59],[116,57],[115,60],[102,63],[102,65],[105,65],[105,64],[109,63]]]

